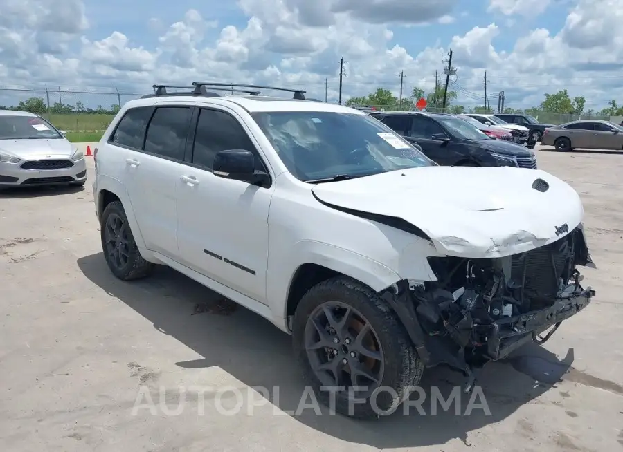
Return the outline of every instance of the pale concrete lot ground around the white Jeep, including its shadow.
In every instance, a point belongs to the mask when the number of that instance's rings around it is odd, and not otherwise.
[[[526,346],[485,367],[480,384],[490,416],[478,409],[433,416],[427,404],[426,416],[375,422],[311,409],[288,415],[303,385],[287,335],[166,268],[138,283],[114,279],[100,252],[90,187],[1,194],[0,449],[623,450],[623,155],[538,157],[584,199],[598,266],[586,270],[585,284],[597,297],[544,348]],[[447,394],[460,382],[437,369],[422,385],[442,385]],[[213,388],[202,404],[189,389],[198,386]],[[235,408],[233,393],[220,398],[226,386],[253,397],[253,413],[219,413]],[[269,388],[270,400],[248,386]],[[133,415],[141,388],[150,388],[155,404],[164,388],[163,408]],[[167,415],[181,395],[183,411]]]

